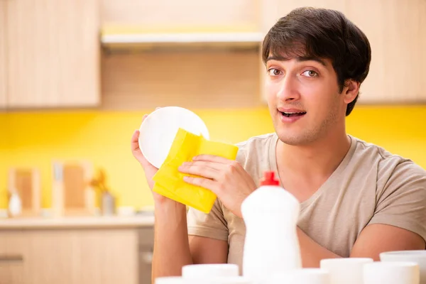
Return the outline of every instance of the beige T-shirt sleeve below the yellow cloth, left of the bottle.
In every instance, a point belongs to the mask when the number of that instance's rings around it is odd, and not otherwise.
[[[228,241],[228,226],[219,199],[214,202],[208,214],[190,208],[187,213],[188,234]]]

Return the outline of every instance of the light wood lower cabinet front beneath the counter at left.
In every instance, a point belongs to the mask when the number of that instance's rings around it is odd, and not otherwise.
[[[28,283],[138,283],[136,229],[24,232]]]

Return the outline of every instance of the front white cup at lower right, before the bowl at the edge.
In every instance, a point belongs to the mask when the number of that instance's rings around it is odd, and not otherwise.
[[[419,284],[420,269],[408,261],[376,261],[364,265],[364,284]]]

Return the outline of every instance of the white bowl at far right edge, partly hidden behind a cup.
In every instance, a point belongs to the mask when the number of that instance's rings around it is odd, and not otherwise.
[[[380,260],[387,261],[410,261],[419,265],[420,284],[426,284],[426,251],[386,251],[380,253]]]

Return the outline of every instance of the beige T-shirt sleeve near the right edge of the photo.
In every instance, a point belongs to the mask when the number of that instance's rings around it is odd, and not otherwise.
[[[426,241],[426,171],[411,161],[396,165],[376,196],[369,224],[398,226]]]

